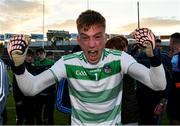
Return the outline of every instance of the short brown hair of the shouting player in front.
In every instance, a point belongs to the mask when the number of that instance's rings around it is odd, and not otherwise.
[[[84,28],[84,31],[88,31],[92,25],[100,24],[104,28],[106,27],[105,18],[94,10],[86,10],[82,12],[76,20],[78,31]]]

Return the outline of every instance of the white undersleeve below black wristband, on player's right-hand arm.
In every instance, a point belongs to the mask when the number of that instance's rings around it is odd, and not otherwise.
[[[128,74],[153,90],[164,90],[166,88],[166,78],[162,64],[157,67],[151,66],[148,69],[142,64],[133,63],[128,69]]]

